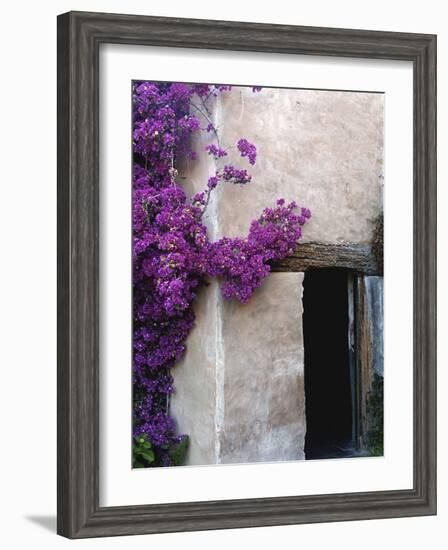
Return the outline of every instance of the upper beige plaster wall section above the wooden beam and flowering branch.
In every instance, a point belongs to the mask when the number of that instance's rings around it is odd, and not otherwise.
[[[284,197],[313,212],[304,240],[368,242],[382,207],[383,101],[382,94],[269,88],[220,96],[222,143],[242,136],[258,150],[253,181],[221,190],[220,231],[246,233]]]

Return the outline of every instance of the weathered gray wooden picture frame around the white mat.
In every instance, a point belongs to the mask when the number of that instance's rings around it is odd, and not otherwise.
[[[146,506],[99,506],[98,51],[101,43],[413,62],[412,489]],[[135,15],[82,12],[60,15],[58,533],[81,538],[435,513],[436,37]]]

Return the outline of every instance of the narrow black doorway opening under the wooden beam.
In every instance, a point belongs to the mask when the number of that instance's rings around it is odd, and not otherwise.
[[[307,271],[303,292],[307,459],[354,455],[348,272]]]

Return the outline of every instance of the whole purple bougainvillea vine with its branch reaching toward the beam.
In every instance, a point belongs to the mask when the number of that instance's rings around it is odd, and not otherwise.
[[[135,467],[182,463],[188,437],[177,434],[169,414],[171,368],[185,352],[201,285],[207,277],[218,277],[226,299],[247,302],[269,275],[270,262],[296,249],[302,226],[311,217],[308,209],[279,199],[252,222],[246,237],[210,242],[202,217],[211,193],[219,184],[247,184],[251,175],[225,164],[204,182],[204,191],[189,199],[176,183],[176,164],[181,157],[197,157],[189,139],[195,132],[214,140],[204,154],[217,161],[228,155],[208,103],[230,92],[231,86],[225,85],[133,84]],[[234,146],[242,162],[256,163],[254,144],[242,137]]]

